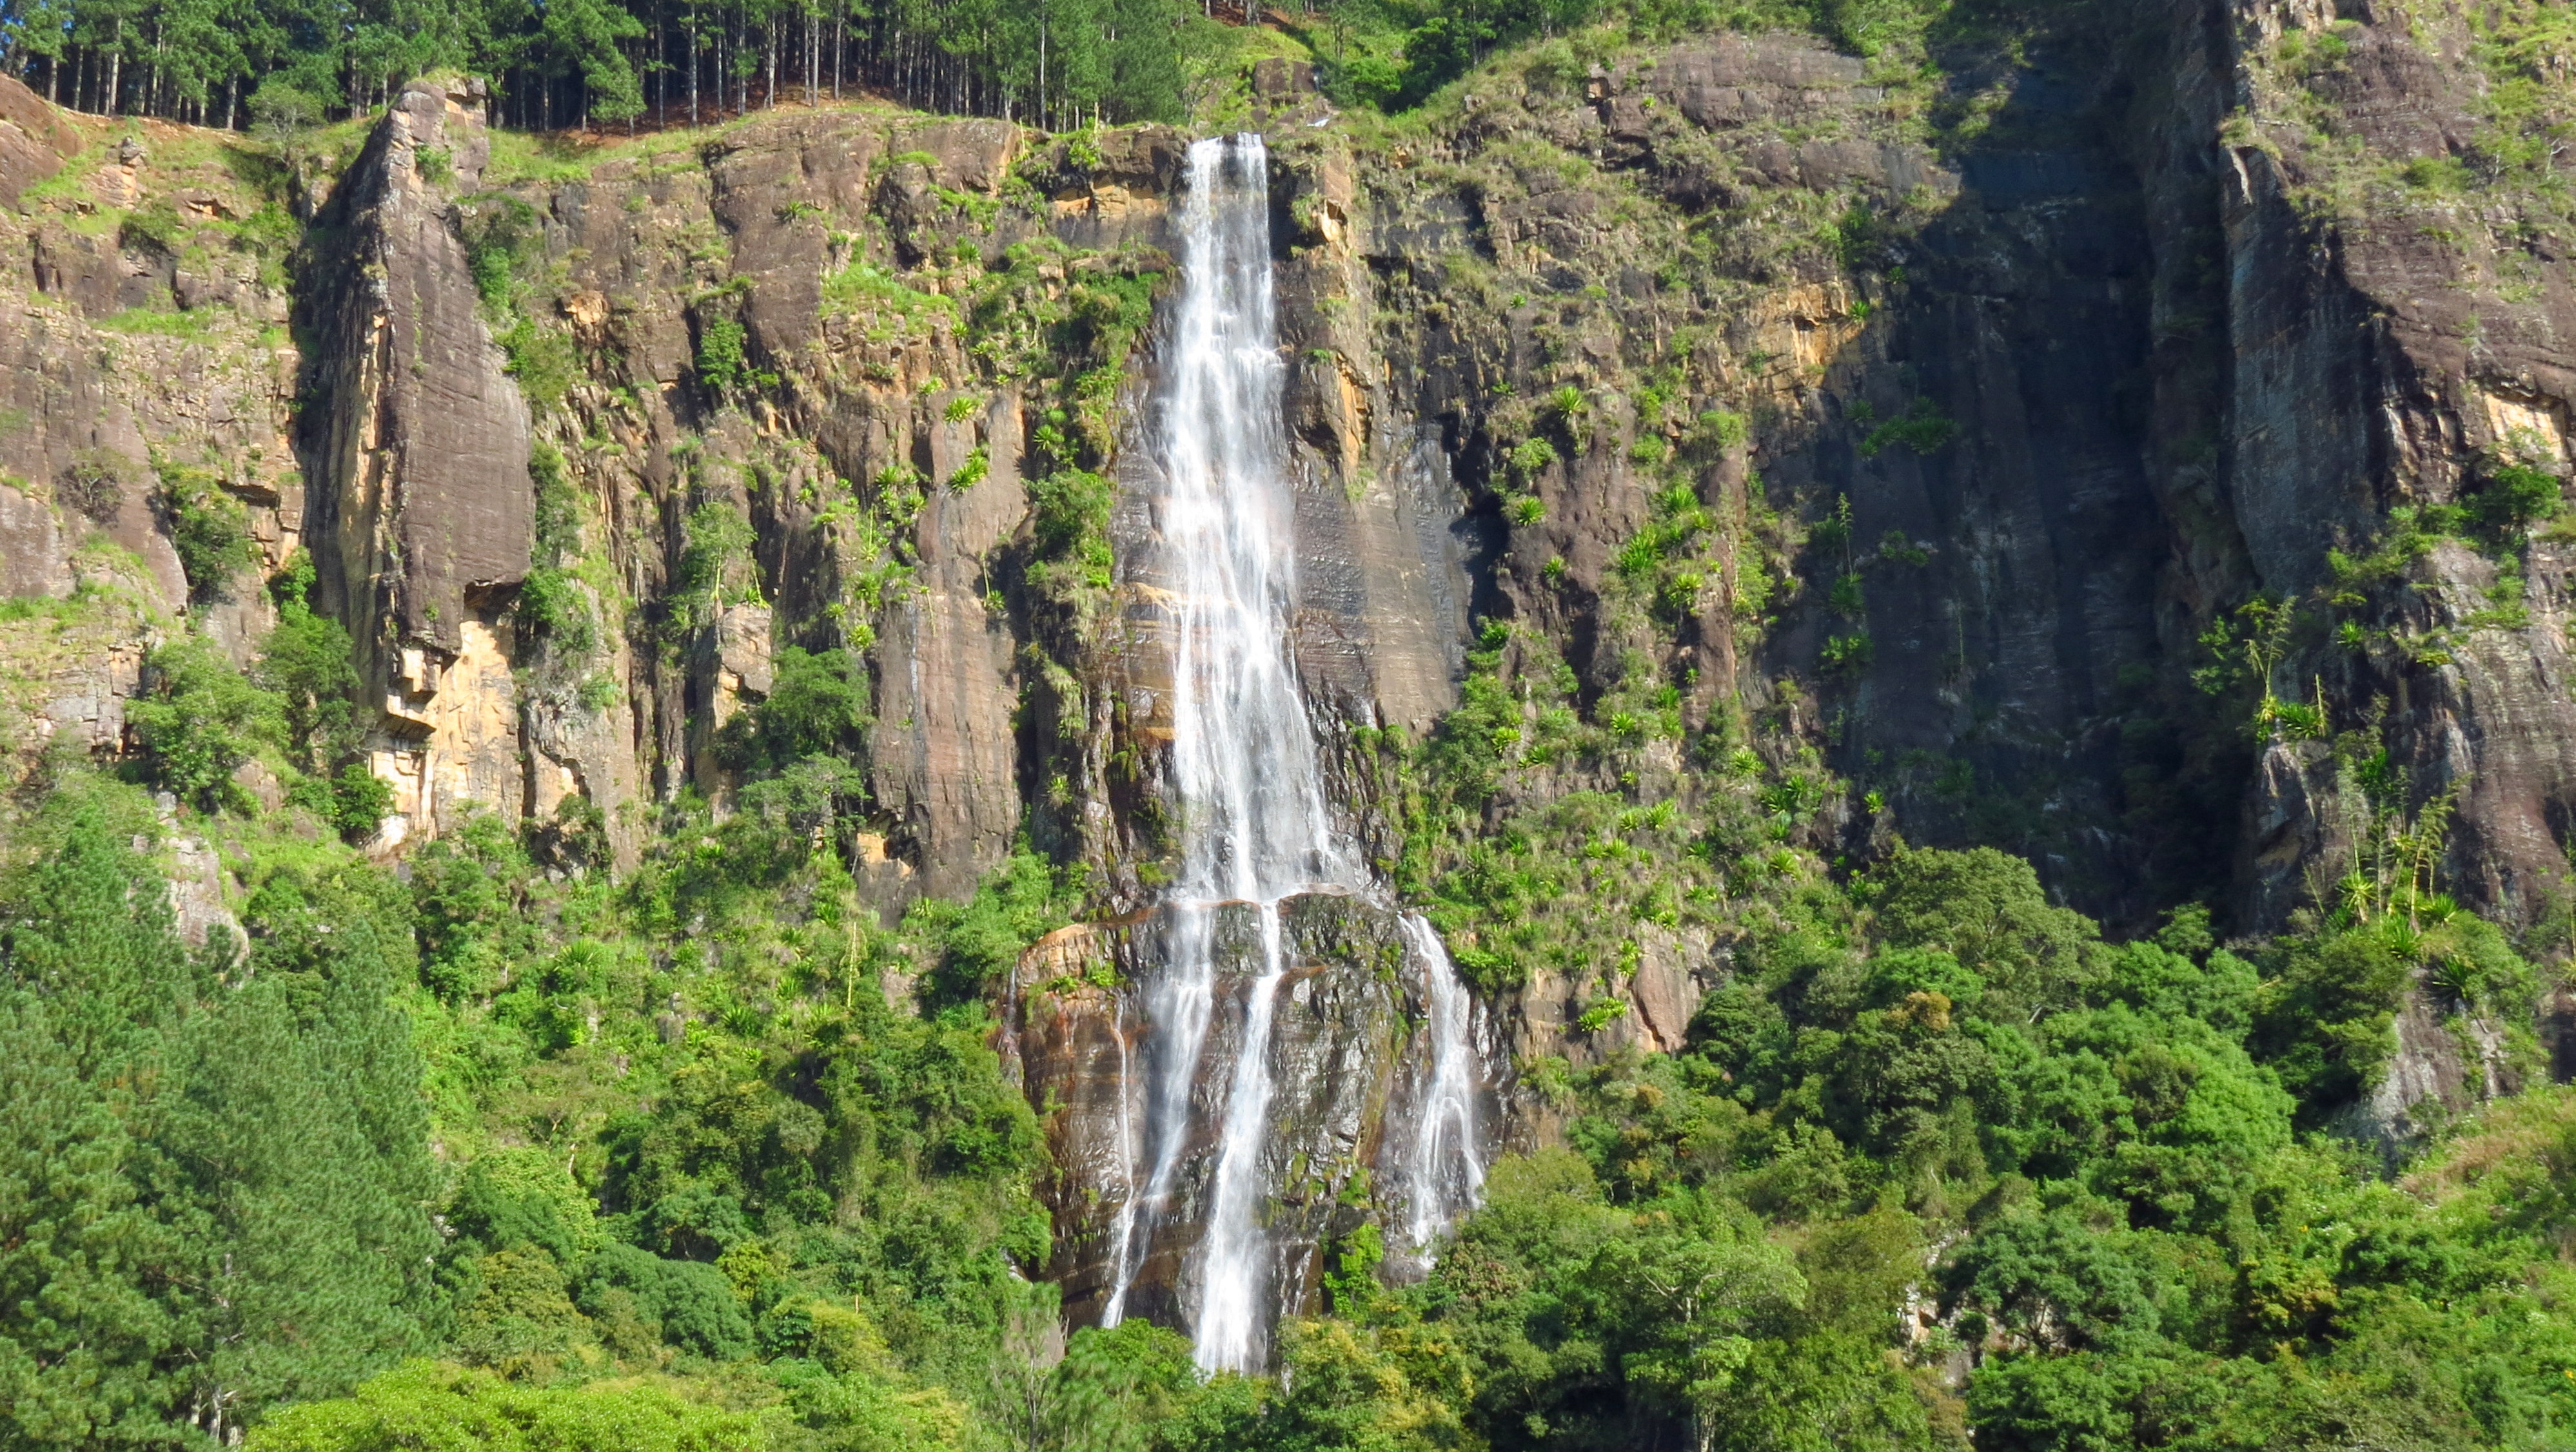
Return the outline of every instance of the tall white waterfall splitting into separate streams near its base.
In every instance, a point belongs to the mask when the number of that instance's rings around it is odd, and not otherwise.
[[[1170,561],[1172,757],[1180,873],[1164,891],[1164,953],[1144,986],[1144,1133],[1110,1220],[1113,1285],[1103,1323],[1167,1228],[1193,1166],[1203,1179],[1195,1259],[1180,1274],[1198,1364],[1260,1370],[1283,1310],[1278,1246],[1262,1228],[1275,1187],[1270,1135],[1273,1027],[1293,963],[1280,901],[1296,893],[1378,898],[1355,842],[1334,829],[1288,620],[1296,608],[1293,497],[1270,283],[1270,160],[1260,136],[1190,147],[1177,211],[1180,296],[1159,396],[1164,492],[1154,528]],[[1218,914],[1257,911],[1252,971],[1218,973]],[[1481,1182],[1468,999],[1419,917],[1404,919],[1422,965],[1432,1048],[1412,1151],[1406,1231],[1427,1243]],[[1425,950],[1427,947],[1427,950]],[[1231,963],[1247,960],[1242,945]],[[1234,1032],[1231,1066],[1211,1063],[1211,1027]],[[1216,1056],[1221,1058],[1221,1056]],[[1221,1076],[1221,1094],[1216,1081]],[[1206,1081],[1203,1081],[1206,1079]],[[1208,1115],[1193,1122],[1193,1102]],[[1213,1146],[1206,1133],[1213,1130]],[[1203,1161],[1213,1153],[1213,1169]],[[1450,1166],[1448,1161],[1458,1161]]]

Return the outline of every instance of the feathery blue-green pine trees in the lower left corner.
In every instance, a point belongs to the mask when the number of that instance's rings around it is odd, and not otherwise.
[[[188,950],[139,834],[64,790],[0,878],[13,1447],[216,1447],[422,1346],[438,1303],[399,922],[314,883],[247,953]]]

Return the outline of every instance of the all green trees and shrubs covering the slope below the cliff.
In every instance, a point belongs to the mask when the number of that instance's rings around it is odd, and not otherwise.
[[[1486,672],[1504,646],[1489,636]],[[786,783],[855,752],[848,669],[783,651],[734,759]],[[1461,741],[1471,721],[1422,747],[1430,770],[1497,767]],[[0,1403],[10,1434],[1213,1452],[1664,1426],[1747,1449],[1814,1429],[2159,1447],[2177,1406],[2208,1447],[2370,1426],[2548,1447],[2571,1426],[2555,1243],[2576,1097],[2509,1099],[2398,1177],[2331,1133],[2409,983],[2491,1022],[2527,1022],[2540,991],[2416,860],[2282,942],[2215,947],[2187,909],[2112,945],[1999,852],[1899,847],[1847,880],[1765,857],[1775,819],[1821,793],[1726,762],[1718,780],[1741,783],[1734,873],[1705,824],[1566,798],[1479,842],[1437,909],[1489,981],[1595,955],[1631,971],[1641,932],[1721,927],[1736,978],[1687,1048],[1530,1066],[1566,1148],[1497,1164],[1422,1285],[1381,1285],[1370,1236],[1345,1238],[1332,1316],[1288,1326],[1285,1375],[1206,1380],[1144,1323],[1038,1354],[1051,1292],[1012,1269],[1046,1251],[1038,1133],[984,1043],[999,976],[1082,909],[1038,857],[889,932],[837,834],[750,790],[721,824],[683,806],[621,883],[538,873],[497,819],[415,852],[407,883],[252,832],[247,955],[222,935],[188,953],[129,847],[149,814],[64,777],[10,824],[0,878],[0,1076],[49,1104],[8,1117],[31,1135],[10,1153],[64,1166],[26,1179],[44,1189],[0,1274],[77,1285],[85,1321],[0,1316],[31,1357]],[[1579,868],[1499,896],[1551,862]],[[1631,891],[1669,896],[1638,911]],[[920,1017],[886,1001],[889,971],[920,978]],[[1623,1012],[1600,994],[1574,1027]],[[2509,1053],[2527,1071],[2535,1050]],[[263,1151],[283,1104],[291,1156]],[[162,1280],[167,1256],[234,1290]],[[219,1290],[219,1316],[191,1310]],[[188,1336],[211,1352],[160,1352]],[[88,1346],[77,1377],[46,1370],[67,1339]],[[211,1395],[219,1426],[196,1421]]]

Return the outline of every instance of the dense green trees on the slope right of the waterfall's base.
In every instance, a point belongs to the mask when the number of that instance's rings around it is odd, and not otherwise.
[[[1641,1419],[1747,1449],[2166,1447],[2174,1419],[2195,1447],[2555,1444],[2576,1159],[2532,1151],[2576,1097],[2506,1102],[2396,1182],[2300,1130],[2360,1086],[2313,1045],[2385,1053],[2409,963],[2530,994],[2486,924],[2385,922],[2249,960],[2197,909],[2105,945],[1996,852],[1798,886],[1736,919],[1685,1053],[1558,1079],[1571,1148],[1499,1164],[1427,1285],[1303,1326],[1296,1390],[1216,1444],[1595,1447]]]

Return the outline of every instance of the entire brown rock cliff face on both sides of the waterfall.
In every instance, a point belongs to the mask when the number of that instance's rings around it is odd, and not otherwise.
[[[1620,752],[1528,749],[1486,826],[1762,783],[1788,847],[1996,842],[2123,924],[2385,896],[2398,837],[2481,911],[2563,917],[2576,535],[2496,499],[2568,471],[2571,219],[2506,106],[2563,106],[2568,62],[2380,10],[2089,8],[1940,85],[1798,36],[1553,46],[1401,129],[1260,75],[1293,641],[1381,868],[1383,734],[1561,672]],[[1185,139],[858,108],[502,165],[469,85],[417,82],[307,160],[291,288],[204,144],[0,82],[0,569],[82,587],[0,620],[21,744],[116,752],[180,613],[247,659],[301,543],[361,649],[381,847],[497,811],[634,865],[685,793],[732,808],[724,723],[786,649],[850,651],[860,891],[963,893],[1025,834],[1115,917],[1005,1001],[1097,1300],[1172,852],[1139,420]],[[173,548],[198,487],[258,543],[229,579]],[[1309,906],[1270,1169],[1311,1290],[1425,1009],[1391,917]],[[1705,927],[1625,942],[1492,996],[1507,1138],[1548,1128],[1515,1066],[1674,1048],[1731,963]],[[2383,1133],[2499,1076],[2409,1014]]]

